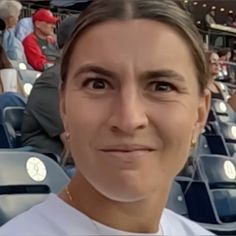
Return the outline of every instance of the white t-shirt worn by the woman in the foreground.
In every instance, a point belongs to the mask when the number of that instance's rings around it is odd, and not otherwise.
[[[57,195],[15,217],[0,228],[0,236],[144,235],[119,231],[91,220]],[[146,235],[213,235],[198,224],[165,209],[160,231]]]

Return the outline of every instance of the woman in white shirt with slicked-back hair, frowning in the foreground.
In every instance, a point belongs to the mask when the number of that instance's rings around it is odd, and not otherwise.
[[[79,17],[61,77],[76,174],[0,235],[211,235],[165,209],[210,103],[189,16],[172,0],[96,0]]]

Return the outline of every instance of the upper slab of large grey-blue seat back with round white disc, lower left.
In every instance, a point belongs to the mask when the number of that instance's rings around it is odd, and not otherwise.
[[[40,153],[0,151],[0,163],[0,186],[45,185],[59,193],[69,181],[60,165]]]

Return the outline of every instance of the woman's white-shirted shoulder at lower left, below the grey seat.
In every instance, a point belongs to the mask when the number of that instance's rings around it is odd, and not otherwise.
[[[42,203],[0,227],[0,236],[94,235],[91,220],[50,194]]]

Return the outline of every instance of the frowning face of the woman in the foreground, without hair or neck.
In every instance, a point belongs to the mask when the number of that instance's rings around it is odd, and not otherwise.
[[[208,110],[186,42],[162,23],[104,23],[83,34],[68,66],[62,118],[87,183],[122,202],[162,193]]]

